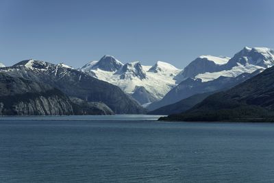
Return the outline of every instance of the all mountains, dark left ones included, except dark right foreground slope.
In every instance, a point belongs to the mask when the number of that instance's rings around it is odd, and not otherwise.
[[[10,93],[0,96],[5,101],[0,101],[1,114],[180,113],[213,93],[245,83],[273,64],[274,50],[264,47],[245,47],[232,58],[199,56],[184,69],[162,61],[152,66],[138,61],[123,64],[108,55],[79,69],[32,59],[13,66],[0,64],[0,89]],[[10,96],[17,96],[18,102],[7,103]],[[23,102],[21,108],[19,102]],[[58,105],[56,111],[50,108]]]

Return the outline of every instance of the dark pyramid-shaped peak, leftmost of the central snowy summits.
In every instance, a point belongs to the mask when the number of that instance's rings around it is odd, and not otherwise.
[[[123,66],[123,63],[113,56],[105,55],[99,61],[92,61],[81,68],[81,70],[97,70],[102,71],[118,71]]]

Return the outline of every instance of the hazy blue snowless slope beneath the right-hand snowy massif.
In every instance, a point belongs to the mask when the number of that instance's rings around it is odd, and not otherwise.
[[[160,101],[156,101],[155,103],[151,103],[147,108],[149,110],[155,110],[157,108],[161,108],[162,106],[169,105],[171,103],[175,103],[182,99],[186,99],[192,95],[198,93],[208,93],[216,90],[225,90],[227,88],[232,88],[241,82],[257,75],[262,70],[257,70],[253,73],[242,73],[237,77],[219,77],[216,80],[212,80],[210,82],[202,82],[201,79],[188,79],[184,80],[177,86],[175,86],[172,90],[167,93],[164,98]]]

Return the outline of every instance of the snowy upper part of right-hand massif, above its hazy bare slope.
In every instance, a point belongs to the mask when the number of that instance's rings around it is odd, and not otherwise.
[[[191,77],[208,82],[220,76],[236,77],[242,73],[253,73],[258,69],[269,68],[273,64],[273,49],[244,47],[233,58],[200,56],[176,75],[175,80],[179,83]]]

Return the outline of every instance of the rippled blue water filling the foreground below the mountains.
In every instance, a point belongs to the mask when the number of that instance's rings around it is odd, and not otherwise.
[[[0,182],[274,182],[274,124],[156,118],[3,117]]]

